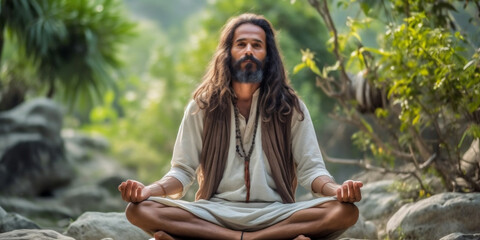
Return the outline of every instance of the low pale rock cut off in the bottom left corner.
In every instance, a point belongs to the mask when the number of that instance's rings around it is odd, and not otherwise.
[[[5,240],[75,240],[71,237],[64,236],[58,232],[53,230],[30,230],[30,229],[22,229],[22,230],[14,230],[6,233],[0,234],[0,239]]]

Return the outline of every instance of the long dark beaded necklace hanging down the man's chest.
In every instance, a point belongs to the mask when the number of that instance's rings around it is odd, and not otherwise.
[[[255,115],[255,128],[253,130],[253,139],[252,145],[248,150],[248,153],[245,152],[243,148],[243,140],[240,134],[240,124],[238,120],[239,110],[237,107],[237,102],[233,100],[234,112],[235,112],[235,138],[236,138],[236,146],[235,149],[240,157],[242,157],[245,161],[245,168],[244,168],[244,176],[245,176],[245,186],[247,187],[247,198],[246,202],[250,201],[250,157],[252,156],[253,147],[255,146],[255,137],[257,136],[257,127],[258,127],[258,116],[260,115],[258,112],[259,107],[257,106],[257,112]]]

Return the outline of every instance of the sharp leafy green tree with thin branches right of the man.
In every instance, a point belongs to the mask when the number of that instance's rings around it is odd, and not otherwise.
[[[333,116],[359,129],[353,139],[365,153],[341,162],[413,176],[427,191],[428,171],[450,191],[480,191],[480,42],[452,17],[463,9],[478,26],[479,1],[339,1],[337,7],[358,4],[345,33],[328,1],[308,2],[329,29],[337,62],[320,70],[314,53],[304,51],[297,70],[317,75],[337,102]],[[361,30],[378,23],[386,23],[383,41],[364,46]],[[394,163],[410,167],[401,171]]]

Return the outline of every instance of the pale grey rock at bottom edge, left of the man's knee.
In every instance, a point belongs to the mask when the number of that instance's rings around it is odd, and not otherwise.
[[[70,224],[64,235],[76,240],[115,240],[150,239],[140,228],[128,222],[125,213],[86,212]]]

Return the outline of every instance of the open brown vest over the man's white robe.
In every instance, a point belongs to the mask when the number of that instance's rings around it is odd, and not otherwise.
[[[231,110],[229,104],[225,111],[217,108],[212,112],[205,112],[196,200],[210,199],[217,192],[222,180],[230,144]],[[284,203],[295,202],[297,186],[292,155],[291,121],[292,114],[286,117],[285,122],[281,122],[279,117],[274,115],[271,121],[262,121],[260,124],[263,152],[270,164],[276,191]]]

